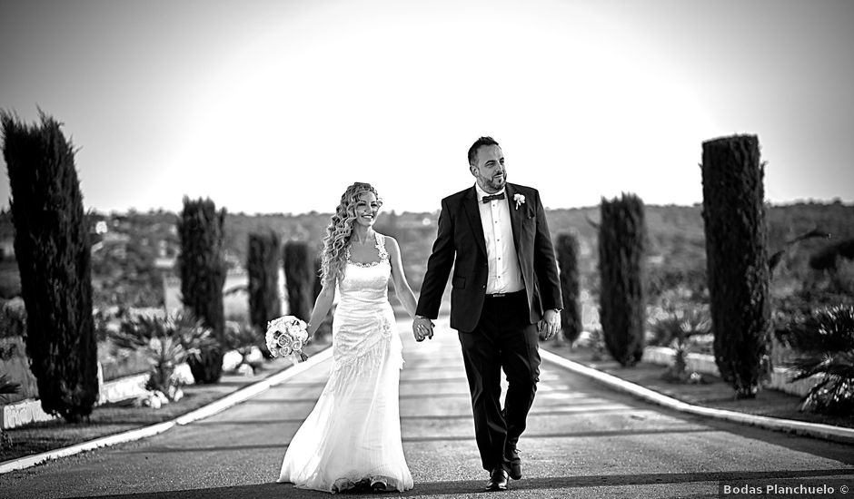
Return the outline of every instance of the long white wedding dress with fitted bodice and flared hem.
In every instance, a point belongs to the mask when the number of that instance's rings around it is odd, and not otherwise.
[[[357,484],[412,488],[403,457],[398,391],[401,338],[388,298],[385,238],[379,261],[354,263],[347,252],[333,320],[333,367],[312,413],[293,435],[278,482],[342,492]]]

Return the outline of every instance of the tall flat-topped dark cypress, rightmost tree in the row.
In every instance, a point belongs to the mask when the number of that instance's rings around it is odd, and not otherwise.
[[[739,398],[767,368],[770,334],[767,222],[755,135],[703,142],[703,221],[715,363]]]

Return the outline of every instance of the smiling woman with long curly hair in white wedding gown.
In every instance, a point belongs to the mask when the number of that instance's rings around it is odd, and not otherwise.
[[[344,191],[323,239],[323,289],[314,303],[312,336],[341,297],[333,319],[333,367],[312,413],[293,435],[278,482],[325,492],[357,486],[412,488],[403,457],[398,384],[402,344],[388,299],[412,317],[415,296],[403,275],[396,240],[373,230],[382,201],[369,183]]]

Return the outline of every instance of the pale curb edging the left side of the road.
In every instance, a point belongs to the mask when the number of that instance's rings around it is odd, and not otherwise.
[[[81,444],[76,445],[69,445],[67,447],[61,447],[58,449],[43,452],[41,454],[26,455],[24,457],[12,459],[10,461],[4,461],[3,463],[0,463],[0,475],[35,465],[40,465],[42,463],[53,459],[58,459],[60,457],[75,455],[85,451],[91,451],[100,447],[107,447],[110,445],[133,442],[134,440],[139,440],[148,436],[154,436],[157,434],[164,433],[164,431],[169,430],[176,425],[184,426],[193,423],[194,421],[198,421],[199,419],[214,416],[214,414],[222,412],[223,410],[231,406],[236,406],[237,404],[240,404],[241,402],[244,402],[245,400],[248,400],[253,396],[257,396],[264,390],[269,389],[271,386],[283,383],[283,381],[286,381],[287,379],[290,379],[291,377],[294,377],[302,373],[303,371],[306,371],[314,367],[315,365],[320,364],[327,358],[332,357],[332,355],[333,349],[331,347],[326,347],[323,350],[315,353],[312,357],[309,357],[308,360],[306,360],[305,362],[301,362],[300,364],[297,364],[292,367],[286,367],[282,371],[279,371],[278,373],[273,374],[269,377],[265,377],[264,379],[253,383],[252,385],[243,386],[243,388],[240,388],[227,396],[223,396],[223,398],[215,400],[207,406],[201,406],[197,409],[194,409],[193,411],[188,412],[187,414],[177,416],[174,419],[164,421],[163,423],[157,423],[151,426],[144,426],[142,428],[128,430],[126,432],[118,433],[115,435],[103,436],[101,438],[96,438],[88,442],[83,442]]]

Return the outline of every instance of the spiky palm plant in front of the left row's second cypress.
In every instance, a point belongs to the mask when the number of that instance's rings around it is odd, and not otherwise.
[[[146,389],[173,399],[179,386],[175,367],[216,344],[202,319],[190,312],[177,312],[165,318],[139,316],[124,321],[118,331],[110,332],[110,337],[115,347],[144,351],[151,364]]]

